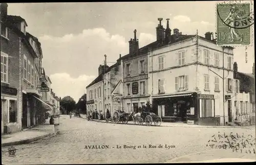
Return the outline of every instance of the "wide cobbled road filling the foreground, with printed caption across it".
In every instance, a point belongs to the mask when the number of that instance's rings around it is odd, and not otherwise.
[[[208,140],[218,132],[255,135],[254,128],[179,128],[105,124],[77,117],[70,119],[68,115],[60,117],[57,129],[59,133],[54,136],[14,146],[17,149],[15,157],[8,156],[8,147],[2,148],[2,162],[159,163],[210,150],[210,147],[206,147]],[[90,145],[108,145],[109,149],[89,149]],[[117,145],[121,148],[117,149]],[[123,148],[124,145],[136,148]],[[147,148],[143,148],[143,145]],[[149,145],[152,145],[152,148],[149,148]],[[159,145],[163,148],[158,148]],[[172,147],[168,149],[165,145]]]

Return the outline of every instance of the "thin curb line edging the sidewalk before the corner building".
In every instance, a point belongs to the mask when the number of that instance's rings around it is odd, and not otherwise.
[[[84,117],[81,117],[82,119],[86,119]],[[97,121],[97,120],[92,120],[94,122],[99,122],[99,123],[109,123],[109,122],[102,122],[102,121]],[[109,123],[109,124],[115,124],[115,123]],[[122,124],[122,123],[117,123],[117,124]],[[132,124],[132,123],[127,123],[124,125],[137,125],[137,124]],[[146,125],[142,125],[142,126],[146,126]],[[152,125],[154,126],[154,125]],[[159,126],[155,126],[155,127],[159,127]],[[167,125],[160,125],[160,127],[183,127],[183,128],[255,128],[255,126],[196,126],[196,127],[188,127],[188,126],[167,126]]]

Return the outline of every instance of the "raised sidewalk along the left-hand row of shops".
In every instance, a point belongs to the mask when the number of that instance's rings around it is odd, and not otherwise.
[[[2,147],[27,144],[54,133],[54,125],[38,125],[26,131],[2,135]]]

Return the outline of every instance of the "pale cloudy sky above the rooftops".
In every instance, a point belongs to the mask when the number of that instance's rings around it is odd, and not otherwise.
[[[204,36],[216,32],[217,2],[9,3],[8,15],[23,17],[26,31],[41,42],[42,66],[58,97],[77,102],[98,76],[98,66],[112,65],[129,53],[137,30],[140,48],[156,40],[157,18],[169,18],[170,29]],[[172,31],[173,32],[173,31]],[[240,72],[252,73],[254,46],[234,50]]]

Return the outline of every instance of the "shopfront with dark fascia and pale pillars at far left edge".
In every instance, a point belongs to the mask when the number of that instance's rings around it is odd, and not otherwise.
[[[17,103],[17,89],[1,85],[1,131],[15,133],[20,131],[20,116]]]

